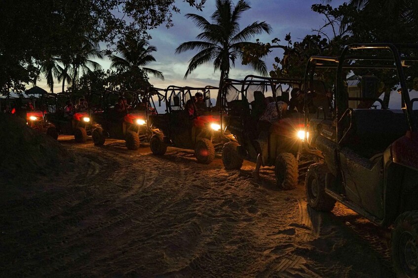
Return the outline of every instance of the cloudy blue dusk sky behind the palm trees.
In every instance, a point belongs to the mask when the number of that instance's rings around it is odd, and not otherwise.
[[[292,41],[298,41],[306,34],[316,33],[312,30],[319,29],[324,25],[324,17],[310,10],[312,4],[322,3],[321,0],[248,0],[248,2],[252,8],[243,13],[243,17],[240,20],[241,29],[254,21],[265,21],[272,28],[270,34],[254,37],[254,40],[252,40],[254,42],[256,38],[259,38],[262,42],[271,42],[273,38],[277,37],[282,40],[282,43],[285,43],[284,37],[289,32],[292,35]],[[343,2],[343,0],[333,0],[332,5],[337,7]],[[150,83],[154,87],[162,89],[169,85],[191,87],[218,86],[220,72],[214,72],[212,63],[200,66],[186,80],[183,78],[189,60],[197,52],[188,51],[181,55],[174,54],[175,49],[181,43],[195,40],[196,35],[200,33],[200,30],[185,15],[187,13],[195,13],[210,20],[210,16],[215,10],[215,0],[207,0],[203,11],[196,10],[181,0],[177,0],[176,5],[181,12],[180,14],[173,14],[174,27],[166,29],[164,26],[161,26],[150,31],[152,35],[150,44],[157,48],[157,52],[153,53],[156,62],[150,63],[147,67],[161,71],[165,77],[165,80],[161,81],[153,76],[149,76]],[[282,56],[282,52],[279,49],[274,49],[264,59],[267,71],[273,69],[272,64],[276,56]],[[105,70],[110,66],[108,59],[97,62]],[[241,62],[236,62],[235,67],[230,69],[229,77],[243,79],[248,74],[256,73],[251,67],[241,65]],[[44,80],[38,82],[37,86],[48,92],[50,91]],[[55,82],[54,92],[61,92],[61,85],[57,81]]]

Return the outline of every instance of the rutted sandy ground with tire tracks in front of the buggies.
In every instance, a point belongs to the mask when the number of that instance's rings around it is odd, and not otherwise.
[[[60,142],[90,159],[0,187],[0,277],[393,277],[388,231],[337,205],[306,206],[272,169],[144,144]]]

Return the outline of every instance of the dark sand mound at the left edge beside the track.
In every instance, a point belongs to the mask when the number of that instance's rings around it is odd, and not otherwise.
[[[79,160],[19,117],[0,114],[0,130],[0,182],[25,181],[33,176],[68,171]]]

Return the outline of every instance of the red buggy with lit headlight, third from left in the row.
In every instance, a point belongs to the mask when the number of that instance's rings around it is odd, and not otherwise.
[[[116,111],[118,101],[123,112]],[[129,150],[138,150],[140,142],[149,142],[154,130],[148,116],[157,113],[145,91],[92,93],[89,97],[90,117],[99,124],[93,132],[95,146],[101,146],[106,138],[125,140]]]

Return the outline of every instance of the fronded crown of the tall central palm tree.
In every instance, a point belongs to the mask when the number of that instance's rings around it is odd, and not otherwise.
[[[244,29],[239,29],[239,19],[242,13],[251,7],[245,0],[239,0],[232,6],[231,0],[216,0],[216,11],[212,14],[210,23],[204,17],[197,14],[187,14],[197,27],[202,31],[197,35],[199,41],[189,41],[182,43],[177,49],[176,54],[188,50],[198,50],[199,52],[190,59],[189,67],[184,78],[198,66],[210,61],[214,61],[215,70],[221,70],[220,84],[224,78],[228,78],[229,69],[235,66],[235,60],[242,60],[242,48],[255,44],[246,40],[263,32],[270,33],[271,27],[266,22],[254,22]],[[266,63],[258,59],[249,63],[258,73],[267,74]]]

